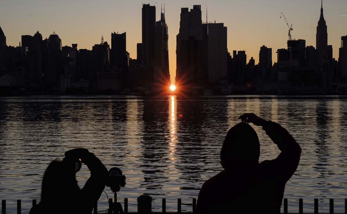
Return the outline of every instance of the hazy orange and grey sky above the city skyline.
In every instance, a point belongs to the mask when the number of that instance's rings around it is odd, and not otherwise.
[[[247,61],[259,61],[262,45],[272,48],[273,62],[277,49],[287,48],[288,26],[281,12],[293,24],[292,39],[306,40],[306,46],[316,47],[316,27],[321,0],[1,0],[0,26],[7,45],[18,46],[21,35],[42,37],[55,32],[62,45],[78,44],[78,49],[92,49],[94,44],[111,43],[111,33],[126,32],[127,51],[136,58],[136,43],[142,42],[142,4],[156,6],[156,20],[161,5],[169,28],[169,63],[171,82],[176,73],[176,35],[179,31],[180,8],[201,5],[202,20],[224,23],[228,28],[228,51],[245,50]],[[347,35],[347,1],[323,0],[324,18],[328,26],[328,45],[338,59],[341,36]]]

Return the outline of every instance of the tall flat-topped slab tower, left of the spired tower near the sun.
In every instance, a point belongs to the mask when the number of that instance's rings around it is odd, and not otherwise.
[[[142,5],[142,65],[154,64],[155,6]]]

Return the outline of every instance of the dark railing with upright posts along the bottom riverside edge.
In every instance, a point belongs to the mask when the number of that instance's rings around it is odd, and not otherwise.
[[[144,196],[144,197],[143,197]],[[142,198],[141,198],[142,197]],[[154,213],[154,214],[160,214],[160,213],[166,213],[166,214],[180,214],[180,213],[193,213],[196,212],[196,198],[193,198],[193,207],[192,211],[181,211],[181,198],[177,199],[177,212],[166,212],[166,199],[162,199],[162,211],[161,212],[152,212],[152,197],[148,197],[148,195],[142,195],[137,198],[137,212],[128,212],[128,198],[124,198],[124,210],[121,208],[121,210],[113,209],[115,212],[109,212],[109,213],[139,213],[139,214],[147,214],[147,213]],[[113,205],[112,205],[113,204]],[[114,206],[115,203],[112,203],[112,198],[109,199],[109,209],[112,209],[112,206]],[[36,199],[33,199],[33,206],[36,205]],[[6,214],[6,200],[2,200],[2,214]],[[100,213],[105,213],[105,211],[99,211]],[[22,213],[22,200],[17,200],[17,214]],[[98,208],[95,205],[93,213],[98,213]],[[283,199],[283,213],[288,214],[288,199]],[[298,214],[303,214],[303,199],[299,198],[299,207],[298,207]],[[318,199],[314,199],[314,210],[310,213],[305,214],[317,214],[318,213]],[[334,199],[329,199],[329,214],[334,213]],[[345,198],[345,214],[347,214],[347,198]],[[296,214],[296,213],[289,213],[289,214]]]

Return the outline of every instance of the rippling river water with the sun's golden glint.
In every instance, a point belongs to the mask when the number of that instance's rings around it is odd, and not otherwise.
[[[129,200],[137,211],[139,195],[153,197],[152,210],[192,211],[202,183],[222,170],[219,152],[229,128],[245,112],[280,123],[301,145],[296,173],[288,181],[289,212],[344,212],[347,193],[347,96],[32,96],[0,97],[0,199],[7,212],[28,213],[32,199],[40,201],[43,172],[56,158],[84,147],[110,169],[118,166],[127,178],[118,201]],[[279,150],[261,127],[253,126],[261,142],[260,160],[274,159]],[[82,187],[86,166],[77,173]],[[111,190],[105,192],[113,198]],[[211,196],[214,197],[214,196]],[[250,202],[251,203],[251,202]],[[98,210],[107,209],[101,195]]]

